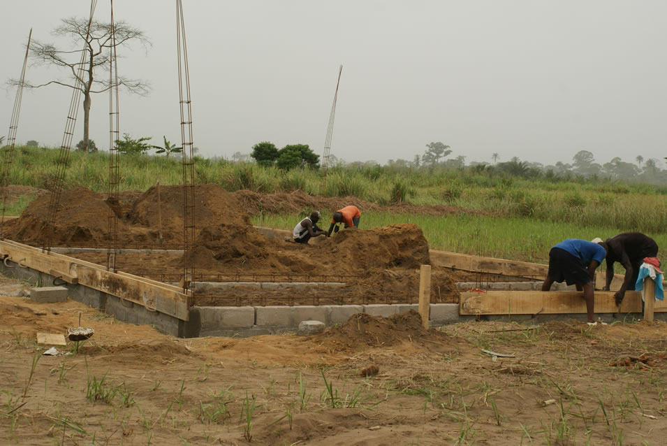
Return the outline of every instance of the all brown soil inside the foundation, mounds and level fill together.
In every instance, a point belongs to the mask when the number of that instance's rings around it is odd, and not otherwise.
[[[12,187],[12,197],[22,189]],[[381,208],[348,197],[346,199],[292,194],[257,194],[240,191],[230,194],[217,185],[196,187],[196,240],[184,257],[183,192],[179,186],[152,187],[146,192],[123,192],[119,201],[107,194],[75,187],[62,192],[57,217],[49,220],[49,194],[25,191],[36,199],[20,217],[3,224],[3,236],[37,247],[91,247],[102,252],[72,252],[71,257],[107,265],[105,248],[112,246],[109,215],[117,217],[115,246],[149,252],[117,254],[115,268],[163,282],[177,283],[184,267],[196,268],[198,281],[260,282],[344,282],[341,289],[323,288],[313,293],[277,291],[268,295],[257,289],[235,289],[233,296],[217,292],[197,293],[197,305],[292,305],[318,303],[406,303],[416,302],[419,268],[430,264],[429,246],[419,226],[392,224],[362,231],[341,231],[312,246],[282,238],[271,239],[250,223],[253,213],[293,212],[295,224],[300,214],[316,209],[336,209],[356,204],[365,210],[386,209],[396,213],[476,212],[448,206],[388,206]],[[51,226],[47,222],[54,221]],[[324,226],[328,220],[322,222]],[[172,250],[167,252],[166,250]],[[434,268],[431,288],[433,303],[457,302],[457,281],[475,276]],[[302,298],[302,299],[301,299]],[[233,299],[233,302],[230,301]]]

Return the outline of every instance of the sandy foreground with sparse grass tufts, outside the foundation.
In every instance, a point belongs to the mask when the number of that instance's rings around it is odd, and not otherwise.
[[[26,287],[3,279],[0,294]],[[75,301],[0,296],[14,445],[661,445],[667,324],[353,317],[318,336],[178,339]],[[95,329],[72,354],[36,333]],[[482,350],[514,357],[493,359]],[[646,355],[641,357],[641,355]],[[377,375],[360,376],[376,364]],[[547,403],[545,403],[547,402]]]

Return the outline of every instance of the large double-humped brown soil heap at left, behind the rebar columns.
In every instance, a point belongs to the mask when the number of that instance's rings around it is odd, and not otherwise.
[[[45,234],[53,231],[52,245],[104,247],[109,240],[109,210],[119,217],[117,233],[120,245],[163,247],[183,243],[183,188],[151,187],[140,196],[121,194],[118,203],[110,203],[108,194],[83,187],[62,192],[55,224],[47,228],[50,195],[39,196],[20,218],[7,222],[7,238],[26,243],[45,243]],[[220,223],[249,226],[250,216],[234,196],[218,185],[197,185],[195,222],[198,231]],[[160,236],[162,238],[160,239]]]

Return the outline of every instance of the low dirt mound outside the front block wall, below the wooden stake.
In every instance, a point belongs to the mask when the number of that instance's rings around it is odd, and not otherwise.
[[[389,347],[405,342],[442,343],[449,336],[441,331],[425,329],[418,312],[410,310],[390,317],[357,313],[342,326],[310,338],[332,351],[351,351],[360,347]]]

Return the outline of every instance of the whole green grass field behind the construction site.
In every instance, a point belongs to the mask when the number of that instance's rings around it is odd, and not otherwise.
[[[8,182],[50,189],[57,173],[59,150],[17,147]],[[108,190],[108,153],[69,154],[64,187]],[[156,182],[182,184],[179,159],[161,156],[123,156],[119,161],[122,190],[145,190]],[[335,167],[326,187],[318,171],[281,171],[254,163],[196,157],[196,182],[212,182],[228,192],[291,192],[301,189],[321,196],[356,196],[388,205],[402,200],[414,205],[448,205],[481,210],[429,217],[392,215],[362,210],[362,228],[392,223],[415,223],[432,249],[525,261],[548,259],[552,245],[565,238],[607,238],[641,231],[658,245],[667,245],[667,185],[643,185],[602,179],[524,178],[480,173],[475,168]],[[6,215],[17,215],[29,203],[12,203]],[[323,213],[330,210],[323,210]],[[310,212],[310,210],[304,210]],[[255,224],[292,229],[299,215],[257,215]],[[664,256],[664,248],[661,255]]]

